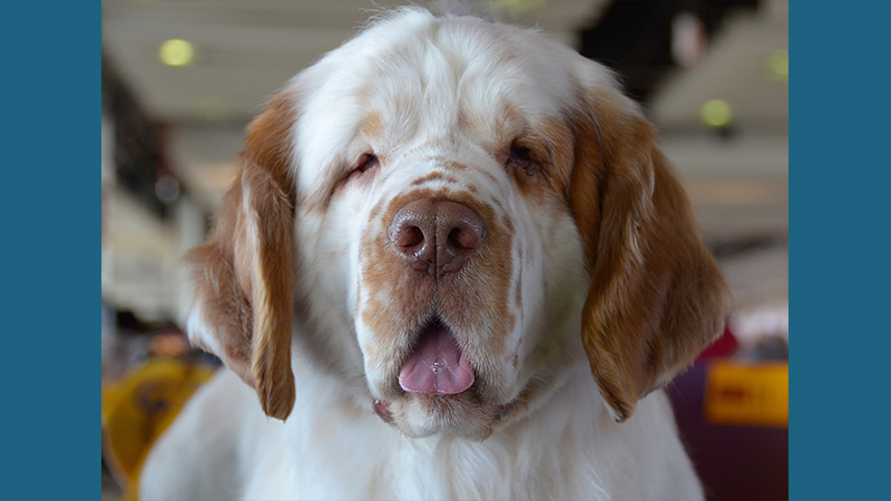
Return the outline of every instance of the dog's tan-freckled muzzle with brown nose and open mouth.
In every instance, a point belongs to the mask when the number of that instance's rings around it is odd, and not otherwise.
[[[373,412],[408,436],[483,440],[515,415],[512,227],[469,190],[383,202],[363,235],[359,314]]]

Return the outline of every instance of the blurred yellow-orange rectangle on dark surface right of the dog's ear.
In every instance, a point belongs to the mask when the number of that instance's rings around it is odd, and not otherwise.
[[[704,411],[712,424],[789,428],[789,362],[713,362]]]

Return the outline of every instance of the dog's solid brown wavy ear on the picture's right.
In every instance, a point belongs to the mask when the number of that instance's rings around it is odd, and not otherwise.
[[[638,106],[611,78],[587,86],[582,99],[569,185],[591,275],[581,336],[621,422],[717,337],[730,294]]]

